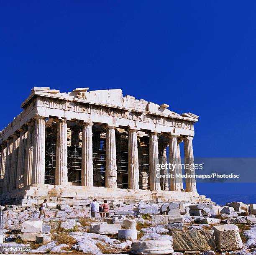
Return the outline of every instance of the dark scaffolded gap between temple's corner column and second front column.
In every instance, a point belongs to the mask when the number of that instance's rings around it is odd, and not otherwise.
[[[45,129],[45,184],[55,184],[57,126],[46,121]]]

